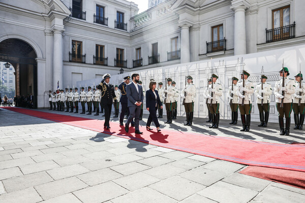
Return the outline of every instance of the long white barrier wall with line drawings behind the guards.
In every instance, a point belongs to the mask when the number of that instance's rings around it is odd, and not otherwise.
[[[132,73],[138,73],[140,75],[140,80],[143,82],[142,85],[145,90],[148,88],[150,79],[154,79],[158,83],[162,82],[164,84],[163,87],[165,87],[165,78],[171,78],[176,82],[176,88],[178,91],[181,91],[185,85],[185,76],[190,75],[193,77],[197,95],[194,105],[194,117],[206,118],[207,107],[205,104],[205,99],[203,98],[203,91],[207,86],[207,79],[211,77],[212,73],[215,73],[219,77],[218,83],[220,83],[223,87],[223,96],[221,97],[220,104],[221,118],[231,119],[231,110],[229,100],[227,99],[227,92],[232,82],[231,78],[234,76],[240,79],[242,65],[244,66],[244,69],[251,74],[249,80],[253,82],[255,87],[260,83],[259,81],[263,66],[263,74],[268,77],[267,83],[270,83],[273,89],[276,81],[280,80],[279,71],[282,68],[283,59],[284,66],[288,67],[289,69],[290,75],[288,77],[294,79],[294,76],[299,72],[299,64],[301,64],[301,72],[305,71],[305,45],[253,54],[224,57],[221,60],[217,58],[178,65],[163,66],[142,71],[131,69],[131,72],[129,73],[112,75],[110,83],[113,85],[118,85],[124,81],[123,78],[125,76],[131,76]],[[84,87],[85,85],[92,86],[94,83],[95,85],[99,84],[100,81],[101,79],[80,81],[77,82],[77,85],[78,88],[79,85]],[[270,96],[270,100],[269,122],[278,122],[278,112],[275,103],[276,99],[273,93]],[[254,94],[252,95],[252,104],[252,121],[259,121],[259,112],[256,104],[256,96]],[[178,116],[185,115],[181,98],[178,100],[177,111]],[[148,112],[144,110],[144,113]]]

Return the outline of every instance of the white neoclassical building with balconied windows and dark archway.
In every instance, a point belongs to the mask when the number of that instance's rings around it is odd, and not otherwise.
[[[103,74],[245,55],[305,43],[302,0],[2,0],[0,61],[16,93],[37,95]]]

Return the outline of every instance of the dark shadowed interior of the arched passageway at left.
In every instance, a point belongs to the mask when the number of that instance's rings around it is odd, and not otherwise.
[[[33,47],[20,39],[0,42],[0,61],[11,63],[15,69],[16,95],[34,95],[37,108],[37,54]]]

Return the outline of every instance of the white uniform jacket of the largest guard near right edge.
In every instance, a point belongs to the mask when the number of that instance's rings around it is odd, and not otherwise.
[[[277,103],[282,102],[282,85],[283,85],[283,79],[278,80],[275,85],[275,96],[277,98]],[[284,103],[292,103],[292,94],[295,92],[295,83],[294,80],[285,78],[284,86],[286,88],[285,95],[284,95]]]

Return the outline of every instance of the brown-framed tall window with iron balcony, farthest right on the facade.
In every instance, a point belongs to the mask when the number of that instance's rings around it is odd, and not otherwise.
[[[272,11],[273,29],[284,27],[290,24],[290,6]],[[287,36],[288,35],[288,36]],[[289,37],[289,27],[276,29],[273,32],[273,38]]]

